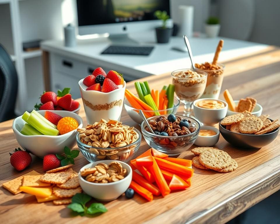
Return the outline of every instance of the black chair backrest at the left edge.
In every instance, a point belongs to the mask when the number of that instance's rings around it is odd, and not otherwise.
[[[15,115],[17,84],[17,71],[13,61],[0,44],[0,122]]]

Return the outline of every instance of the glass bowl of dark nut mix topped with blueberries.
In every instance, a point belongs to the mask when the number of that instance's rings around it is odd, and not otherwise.
[[[183,115],[161,115],[147,120],[155,134],[150,132],[145,122],[142,122],[141,131],[144,139],[150,147],[171,156],[188,150],[199,133],[199,122]]]

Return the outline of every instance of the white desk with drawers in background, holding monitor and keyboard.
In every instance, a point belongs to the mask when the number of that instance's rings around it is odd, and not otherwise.
[[[101,55],[111,42],[107,38],[78,40],[77,46],[65,47],[62,40],[50,40],[41,43],[41,48],[49,53],[50,60],[50,89],[70,87],[73,97],[80,97],[78,80],[90,74],[90,70],[102,67],[105,71],[116,70],[127,81],[149,75],[158,75],[176,69],[190,67],[187,52],[172,50],[173,47],[185,49],[181,37],[172,37],[168,44],[155,43],[155,34],[131,34],[131,38],[144,46],[154,46],[149,56],[138,55]],[[220,38],[190,38],[195,62],[211,61]],[[267,47],[267,45],[247,41],[223,38],[225,43],[219,61],[227,61],[247,53],[253,53]],[[48,55],[45,55],[46,57]],[[68,65],[65,65],[68,63]],[[71,66],[69,65],[71,64]],[[45,71],[48,65],[45,66]],[[46,74],[46,72],[45,72]],[[48,74],[46,74],[48,75]],[[48,81],[48,77],[45,78]],[[46,85],[48,89],[48,84]]]

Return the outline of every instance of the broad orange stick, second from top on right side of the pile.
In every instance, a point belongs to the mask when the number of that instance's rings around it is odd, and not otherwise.
[[[183,176],[187,176],[187,177],[192,177],[192,175],[193,175],[193,169],[191,169],[189,167],[185,167],[185,166],[176,164],[174,162],[169,162],[169,161],[161,159],[161,158],[157,158],[157,157],[153,157],[153,158],[155,159],[155,161],[157,162],[157,165],[160,168],[167,169],[174,174],[178,174],[179,176],[183,175]]]

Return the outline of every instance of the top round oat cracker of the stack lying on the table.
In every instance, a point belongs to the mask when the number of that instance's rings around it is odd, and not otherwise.
[[[225,151],[216,149],[203,151],[200,153],[198,159],[205,167],[215,170],[225,169],[226,167],[229,167],[232,162],[230,155],[228,155]]]

